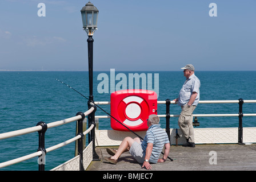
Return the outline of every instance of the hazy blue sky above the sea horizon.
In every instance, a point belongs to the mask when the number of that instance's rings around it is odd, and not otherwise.
[[[80,12],[87,2],[1,0],[0,71],[87,71]],[[38,16],[39,3],[45,16]],[[94,71],[180,71],[186,64],[196,71],[256,71],[255,0],[91,3],[99,10]]]

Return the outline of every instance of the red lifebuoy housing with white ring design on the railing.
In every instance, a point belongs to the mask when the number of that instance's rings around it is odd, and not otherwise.
[[[147,130],[147,119],[150,114],[157,114],[157,93],[152,90],[129,89],[111,93],[111,115],[133,131]],[[111,128],[129,131],[114,118]]]

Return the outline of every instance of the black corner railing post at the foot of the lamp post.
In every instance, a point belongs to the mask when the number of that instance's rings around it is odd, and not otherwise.
[[[97,110],[97,107],[95,105],[90,105],[90,101],[88,102],[88,105],[89,105],[89,109],[91,109],[91,107],[94,107],[94,110],[91,114],[88,115],[88,120],[89,120],[89,125],[88,125],[88,128],[93,124],[94,127],[93,129],[90,131],[90,140],[89,140],[89,143],[91,141],[93,141],[93,161],[99,161],[101,160],[101,158],[99,158],[98,154],[96,153],[95,151],[95,127],[96,127],[96,124],[95,124],[95,111]]]

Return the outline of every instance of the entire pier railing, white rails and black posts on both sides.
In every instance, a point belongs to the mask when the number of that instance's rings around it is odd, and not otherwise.
[[[244,103],[256,103],[256,100],[242,100],[240,98],[239,100],[226,100],[226,101],[199,101],[199,104],[221,104],[221,103],[237,103],[239,104],[239,111],[238,114],[194,114],[194,117],[238,117],[239,118],[239,127],[238,127],[238,143],[243,144],[243,126],[242,126],[242,118],[243,116],[256,116],[255,114],[243,114],[242,106]],[[94,102],[95,105],[110,105],[110,102]],[[38,169],[39,171],[45,170],[45,164],[43,163],[43,157],[45,157],[47,152],[56,150],[57,148],[66,146],[69,143],[74,142],[75,140],[78,140],[78,155],[80,157],[79,160],[79,169],[84,170],[83,168],[83,137],[84,135],[88,134],[90,131],[91,135],[89,135],[89,142],[93,141],[95,142],[95,136],[94,136],[94,129],[95,129],[95,118],[110,118],[109,115],[102,115],[102,116],[95,116],[93,119],[89,119],[91,122],[89,123],[89,129],[87,129],[85,132],[82,132],[82,122],[85,116],[93,115],[96,111],[96,107],[94,104],[89,104],[89,110],[87,110],[85,113],[79,112],[75,117],[63,119],[61,121],[51,122],[46,124],[45,122],[39,122],[37,123],[37,126],[29,127],[27,129],[22,130],[16,130],[16,131],[10,131],[7,133],[0,134],[0,140],[11,138],[11,137],[17,137],[19,135],[25,135],[29,133],[33,133],[35,131],[38,131],[39,134],[39,147],[38,151],[34,152],[33,154],[29,154],[26,156],[22,156],[21,158],[9,160],[7,162],[0,163],[0,168],[10,166],[12,164],[16,164],[19,162],[22,162],[24,160],[28,160],[31,158],[34,158],[38,156]],[[179,117],[179,114],[170,114],[170,104],[175,104],[174,101],[166,100],[166,101],[157,101],[157,104],[166,104],[166,114],[159,114],[159,117],[165,117],[166,118],[166,132],[169,134],[170,139],[170,117]],[[61,125],[65,125],[67,123],[78,121],[78,134],[76,137],[71,138],[69,140],[66,140],[65,142],[56,144],[55,146],[45,148],[45,132],[47,129],[50,129],[52,127],[57,127]],[[95,154],[95,143],[93,144],[93,159],[97,160],[97,154]]]

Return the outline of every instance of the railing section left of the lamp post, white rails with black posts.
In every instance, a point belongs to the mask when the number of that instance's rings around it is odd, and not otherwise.
[[[17,137],[19,135],[25,135],[25,134],[29,134],[29,133],[33,133],[38,131],[38,135],[39,135],[39,147],[37,152],[34,152],[33,154],[29,154],[29,155],[25,155],[22,156],[20,158],[17,159],[13,159],[13,160],[9,160],[7,162],[3,162],[0,163],[0,168],[3,167],[7,167],[31,158],[34,158],[36,156],[38,156],[38,170],[39,171],[44,171],[45,170],[45,155],[47,152],[51,152],[53,150],[56,150],[57,148],[61,148],[63,146],[66,146],[67,144],[70,144],[72,142],[74,142],[75,140],[78,140],[78,155],[79,155],[79,169],[80,170],[84,170],[83,169],[83,137],[88,134],[91,130],[95,129],[95,122],[91,122],[89,123],[89,129],[87,129],[86,131],[82,132],[82,122],[83,119],[85,119],[85,117],[87,115],[90,115],[92,113],[95,112],[95,107],[94,104],[90,104],[89,106],[89,110],[87,110],[85,113],[82,112],[78,112],[77,115],[75,117],[71,117],[71,118],[67,118],[67,119],[63,119],[61,121],[56,121],[56,122],[51,122],[46,124],[45,122],[38,122],[37,126],[34,127],[29,127],[26,129],[22,129],[22,130],[16,130],[16,131],[10,131],[7,133],[2,133],[0,134],[0,140],[1,139],[6,139],[6,138],[11,138],[11,137]],[[55,146],[49,147],[49,148],[45,148],[45,132],[47,129],[50,129],[52,127],[57,127],[57,126],[61,126],[61,125],[65,125],[67,123],[70,122],[74,122],[74,121],[78,121],[78,134],[77,136],[75,136],[74,138],[71,138],[69,140],[66,140],[65,142],[56,144]],[[91,138],[91,137],[89,137]],[[94,142],[94,140],[93,140]],[[93,150],[93,152],[95,152],[95,150]]]

